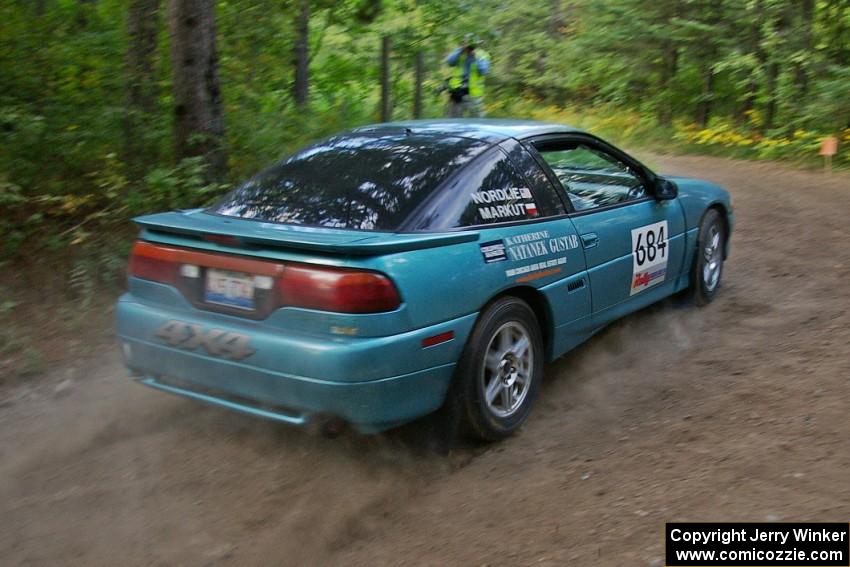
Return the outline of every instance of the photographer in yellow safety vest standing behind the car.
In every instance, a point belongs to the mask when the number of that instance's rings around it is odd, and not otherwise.
[[[490,56],[476,43],[468,35],[463,45],[446,57],[446,65],[453,68],[448,85],[448,114],[452,118],[484,116],[484,76],[490,72]]]

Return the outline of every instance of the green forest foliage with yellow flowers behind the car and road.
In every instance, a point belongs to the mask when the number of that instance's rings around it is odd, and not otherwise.
[[[153,103],[128,107],[129,1],[0,2],[3,258],[97,248],[131,234],[132,216],[201,206],[225,189],[204,182],[199,159],[173,155],[164,1]],[[443,113],[442,59],[471,32],[493,58],[491,115],[749,158],[816,160],[818,140],[836,134],[836,163],[850,162],[846,0],[314,0],[301,108],[291,93],[298,6],[216,4],[228,184],[377,120],[384,35],[394,118],[411,116],[417,53],[425,114]],[[85,294],[99,268],[68,269]]]

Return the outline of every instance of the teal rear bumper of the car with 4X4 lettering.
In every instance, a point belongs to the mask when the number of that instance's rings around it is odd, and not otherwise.
[[[156,330],[175,319],[245,334],[256,353],[231,360],[203,348],[171,346]],[[362,432],[440,407],[474,321],[473,314],[391,337],[356,339],[288,333],[193,308],[163,308],[130,294],[116,308],[125,364],[141,383],[295,425],[333,416]],[[423,338],[449,330],[453,340],[422,348]]]

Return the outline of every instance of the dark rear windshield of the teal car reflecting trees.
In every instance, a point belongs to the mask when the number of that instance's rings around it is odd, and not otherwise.
[[[209,212],[268,222],[396,230],[487,144],[354,133],[310,146],[228,193]]]

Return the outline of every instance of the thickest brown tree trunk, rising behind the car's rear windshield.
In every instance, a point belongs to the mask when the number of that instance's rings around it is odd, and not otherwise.
[[[224,119],[218,79],[214,0],[169,0],[178,158],[203,156],[207,178],[225,173]]]

